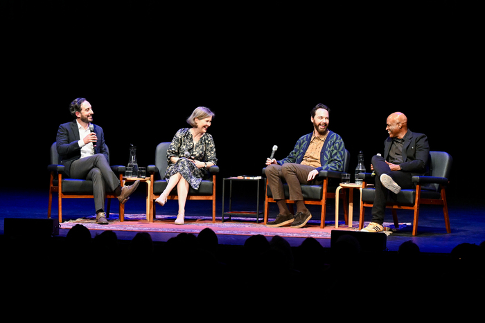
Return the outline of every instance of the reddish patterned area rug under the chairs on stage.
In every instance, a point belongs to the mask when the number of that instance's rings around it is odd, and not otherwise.
[[[358,230],[358,221],[353,221],[353,228],[345,225],[344,221],[339,221],[338,228],[335,228],[335,221],[325,221],[325,228],[320,228],[320,221],[308,221],[304,228],[292,229],[290,226],[281,228],[271,228],[263,225],[262,220],[256,223],[256,219],[252,218],[236,218],[232,216],[231,221],[216,217],[216,222],[212,223],[212,218],[209,217],[195,217],[187,216],[184,225],[176,225],[174,223],[175,216],[157,216],[157,219],[150,223],[146,220],[145,214],[125,214],[125,221],[120,222],[118,214],[109,214],[108,225],[98,225],[95,221],[95,216],[80,218],[76,220],[66,221],[60,223],[60,229],[70,229],[76,224],[85,225],[89,230],[112,230],[112,231],[134,231],[134,232],[175,232],[175,233],[192,233],[198,234],[204,228],[211,228],[215,234],[233,234],[252,236],[255,234],[263,234],[266,237],[313,237],[315,239],[330,239],[332,230]],[[368,224],[364,223],[364,226]],[[391,228],[394,228],[393,223],[384,223],[387,227],[386,234],[391,234]],[[409,223],[400,223],[400,229],[405,228]]]

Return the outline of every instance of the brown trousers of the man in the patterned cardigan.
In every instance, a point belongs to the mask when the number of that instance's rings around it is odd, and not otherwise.
[[[308,174],[315,167],[301,164],[284,163],[283,165],[271,164],[266,166],[265,174],[267,184],[270,186],[274,200],[284,200],[285,191],[283,182],[288,184],[290,190],[290,200],[303,201],[301,186],[308,184]],[[311,181],[315,183],[315,180]]]

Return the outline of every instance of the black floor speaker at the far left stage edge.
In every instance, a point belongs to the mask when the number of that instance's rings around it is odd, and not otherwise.
[[[59,220],[5,218],[3,232],[6,237],[51,237],[59,234]]]

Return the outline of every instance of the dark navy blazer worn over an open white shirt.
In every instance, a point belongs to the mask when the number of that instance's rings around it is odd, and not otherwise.
[[[96,147],[94,147],[94,154],[105,155],[109,163],[108,149],[105,144],[105,133],[96,124],[94,124],[94,132],[98,137]],[[65,174],[68,177],[70,176],[71,163],[81,158],[81,148],[78,145],[79,140],[79,129],[76,120],[63,123],[59,126],[56,137],[56,148],[60,156],[60,163],[66,167]]]

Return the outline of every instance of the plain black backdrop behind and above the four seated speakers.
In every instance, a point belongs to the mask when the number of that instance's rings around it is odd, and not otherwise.
[[[449,199],[478,194],[476,8],[17,2],[0,10],[2,185],[47,190],[48,149],[71,120],[69,103],[82,97],[116,165],[127,163],[130,144],[140,166],[154,163],[157,144],[188,127],[193,109],[209,107],[219,178],[260,175],[273,145],[276,159],[287,156],[312,131],[320,102],[351,153],[351,172],[360,150],[369,167],[387,116],[402,111],[432,150],[452,154]]]

